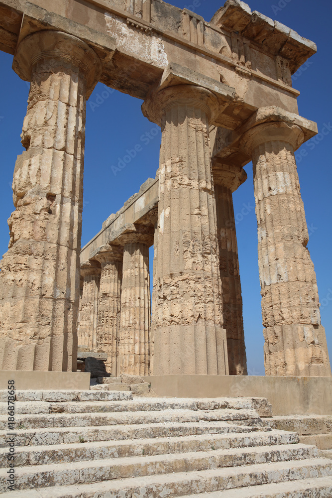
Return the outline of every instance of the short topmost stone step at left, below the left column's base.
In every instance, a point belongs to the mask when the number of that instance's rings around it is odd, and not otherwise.
[[[129,391],[15,390],[15,401],[117,401],[132,399]],[[258,398],[260,399],[260,398]],[[262,398],[264,399],[264,398]],[[0,390],[0,402],[7,404],[8,391]],[[16,403],[15,403],[16,404]]]

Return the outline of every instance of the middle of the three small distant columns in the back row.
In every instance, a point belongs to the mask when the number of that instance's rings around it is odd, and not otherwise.
[[[106,367],[118,375],[120,300],[123,251],[118,246],[102,246],[94,255],[102,265],[99,285],[97,348],[107,353]]]

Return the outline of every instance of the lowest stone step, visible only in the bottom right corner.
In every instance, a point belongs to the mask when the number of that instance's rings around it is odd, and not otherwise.
[[[183,495],[179,498],[331,498],[332,477],[319,477],[290,481],[288,483],[263,484],[250,488],[237,488],[231,492],[213,491]]]

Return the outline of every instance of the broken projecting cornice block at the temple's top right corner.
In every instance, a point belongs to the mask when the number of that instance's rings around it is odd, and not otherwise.
[[[212,17],[211,24],[260,44],[263,50],[289,60],[294,74],[306,60],[317,52],[314,42],[303,38],[293,29],[274,21],[260,12],[251,11],[249,5],[239,0],[227,0]]]

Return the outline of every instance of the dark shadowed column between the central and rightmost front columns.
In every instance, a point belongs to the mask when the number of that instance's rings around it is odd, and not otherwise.
[[[223,327],[227,334],[230,375],[246,375],[242,294],[237,255],[232,193],[246,180],[245,171],[235,165],[215,163],[213,180],[217,206],[217,237],[222,284]]]

